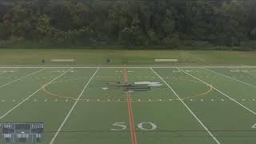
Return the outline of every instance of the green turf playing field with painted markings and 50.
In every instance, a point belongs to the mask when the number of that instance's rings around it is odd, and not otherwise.
[[[0,94],[42,144],[256,143],[256,66],[0,67]]]

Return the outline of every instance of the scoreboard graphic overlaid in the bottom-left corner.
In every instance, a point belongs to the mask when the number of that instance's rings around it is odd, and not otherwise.
[[[1,139],[5,142],[41,142],[42,122],[2,123]]]

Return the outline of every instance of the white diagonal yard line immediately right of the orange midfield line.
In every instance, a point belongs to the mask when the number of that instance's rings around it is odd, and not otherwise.
[[[220,142],[218,142],[218,139],[215,138],[213,134],[211,134],[210,130],[208,130],[208,128],[201,122],[201,120],[194,114],[194,112],[192,110],[190,110],[190,107],[187,106],[185,102],[183,102],[182,98],[180,98],[178,96],[178,94],[170,87],[170,85],[159,74],[157,74],[152,68],[150,68],[150,69],[154,72],[154,74],[158,75],[158,78],[160,78],[162,80],[162,82],[166,83],[166,86],[168,86],[170,88],[170,90],[176,95],[176,97],[180,100],[180,102],[182,102],[182,104],[186,107],[186,109],[190,111],[190,113],[194,116],[194,118],[197,119],[197,121],[207,131],[207,133],[210,134],[210,136],[214,139],[214,141],[216,143],[220,144]]]

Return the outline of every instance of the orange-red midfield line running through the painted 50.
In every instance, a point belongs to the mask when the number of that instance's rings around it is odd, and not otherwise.
[[[123,74],[125,78],[126,85],[128,85],[128,74],[126,67],[123,67]],[[131,106],[131,100],[130,100],[130,91],[127,90],[127,104],[128,104],[128,114],[129,114],[129,120],[130,120],[130,137],[132,144],[137,144],[137,138],[136,138],[136,132],[134,128],[134,113],[133,113],[133,108]]]

